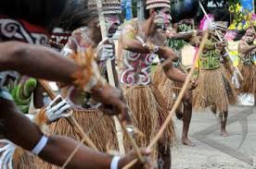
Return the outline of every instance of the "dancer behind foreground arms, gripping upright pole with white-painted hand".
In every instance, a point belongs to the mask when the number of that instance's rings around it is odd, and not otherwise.
[[[110,39],[118,29],[120,25],[121,6],[120,1],[104,1],[103,11],[105,16],[105,22],[107,24],[109,39],[102,40],[100,28],[98,24],[98,16],[96,1],[90,0],[88,7],[92,11],[91,21],[88,26],[73,30],[69,42],[62,49],[62,53],[74,59],[73,55],[79,53],[84,48],[93,46],[97,64],[99,65],[101,75],[107,77],[106,62],[107,59],[115,59],[115,47],[114,42]],[[82,7],[84,10],[84,7]],[[77,12],[76,10],[75,12]],[[74,19],[78,14],[74,14],[72,20],[65,20],[65,22],[74,22]],[[68,24],[70,25],[70,24]],[[74,86],[62,87],[61,94],[68,102],[73,105],[74,117],[78,120],[81,127],[87,132],[95,123],[96,119],[102,115],[98,109],[98,103],[92,100],[90,93],[84,92],[81,89]],[[59,120],[56,124],[52,125],[52,131],[54,134],[69,136],[73,139],[79,139],[75,131],[73,131],[66,119]],[[95,143],[96,147],[100,151],[108,151],[108,149],[118,149],[117,134],[115,131],[115,124],[113,118],[105,115],[97,127],[88,135]],[[107,145],[110,147],[108,148]]]

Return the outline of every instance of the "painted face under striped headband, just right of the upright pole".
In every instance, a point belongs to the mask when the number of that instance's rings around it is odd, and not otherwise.
[[[108,32],[108,37],[111,38],[116,31],[118,30],[118,27],[121,24],[121,19],[119,15],[105,15],[105,23],[106,23],[106,29]]]

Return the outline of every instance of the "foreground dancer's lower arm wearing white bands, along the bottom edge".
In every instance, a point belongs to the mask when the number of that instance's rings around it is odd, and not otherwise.
[[[6,139],[11,140],[27,151],[32,151],[35,145],[42,138],[43,134],[40,129],[35,126],[29,118],[19,113],[15,103],[0,98],[1,113],[1,134]],[[39,156],[49,162],[59,166],[63,165],[69,158],[70,153],[77,147],[78,142],[64,138],[50,136],[47,140],[45,148],[39,153]],[[150,151],[142,151],[143,155],[149,155]],[[119,162],[119,168],[135,159],[134,153],[129,153]],[[84,169],[109,168],[112,156],[106,153],[93,151],[82,146],[75,156],[71,159],[67,168]]]

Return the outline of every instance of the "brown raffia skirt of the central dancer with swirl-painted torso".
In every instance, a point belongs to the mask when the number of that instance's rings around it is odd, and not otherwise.
[[[153,85],[122,87],[122,89],[132,110],[135,126],[144,133],[144,137],[136,137],[135,140],[140,147],[147,147],[168,115],[166,103],[161,97],[160,91]],[[160,142],[166,150],[175,142],[173,122],[165,130]],[[152,150],[153,159],[157,159],[157,148],[156,145]],[[131,148],[128,146],[126,149],[130,150]]]

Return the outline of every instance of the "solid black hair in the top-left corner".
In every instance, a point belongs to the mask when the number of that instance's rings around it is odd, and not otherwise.
[[[24,19],[50,29],[56,25],[68,0],[0,0],[0,15]]]

